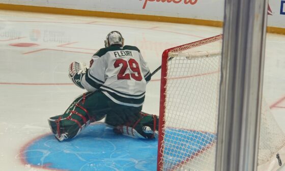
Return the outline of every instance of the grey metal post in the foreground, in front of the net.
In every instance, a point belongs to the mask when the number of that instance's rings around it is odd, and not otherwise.
[[[257,170],[267,0],[225,0],[216,171]]]

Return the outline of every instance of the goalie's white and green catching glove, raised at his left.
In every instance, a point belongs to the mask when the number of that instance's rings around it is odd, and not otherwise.
[[[69,65],[69,78],[72,82],[81,89],[84,87],[81,84],[81,79],[86,72],[88,72],[89,67],[85,63],[73,62]]]

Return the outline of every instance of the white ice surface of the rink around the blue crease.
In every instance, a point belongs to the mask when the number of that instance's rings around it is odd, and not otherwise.
[[[151,71],[164,49],[216,36],[218,27],[124,19],[0,11],[1,170],[44,170],[21,162],[21,148],[50,133],[47,119],[60,115],[83,91],[68,78],[73,61],[89,63],[110,31],[137,46]],[[11,46],[34,43],[31,47]],[[264,96],[285,131],[285,36],[267,34]],[[148,84],[143,110],[158,115],[160,72]]]

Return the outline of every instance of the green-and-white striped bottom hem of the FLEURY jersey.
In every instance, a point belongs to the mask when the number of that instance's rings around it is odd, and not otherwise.
[[[139,99],[134,99],[134,98],[124,98],[122,96],[117,95],[116,93],[112,93],[109,91],[102,90],[102,92],[109,97],[113,102],[119,103],[119,104],[124,104],[127,106],[141,106],[144,103],[145,96],[139,98]]]

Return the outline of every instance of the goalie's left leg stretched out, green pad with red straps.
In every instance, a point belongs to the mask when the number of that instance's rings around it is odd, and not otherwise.
[[[76,98],[63,115],[49,118],[55,138],[59,141],[73,138],[90,123],[102,120],[104,109],[108,108],[104,97],[101,92],[88,92]]]

